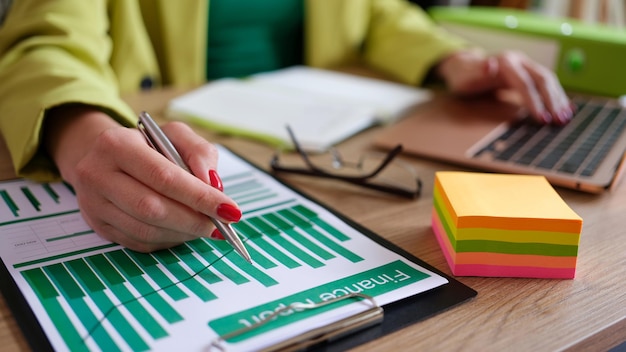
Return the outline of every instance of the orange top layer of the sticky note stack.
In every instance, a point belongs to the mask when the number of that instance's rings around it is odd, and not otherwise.
[[[544,176],[442,171],[435,189],[459,228],[580,233],[582,227]]]

